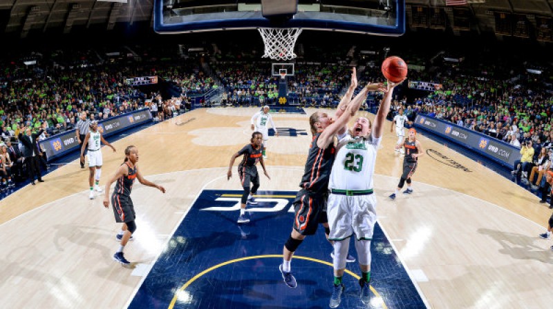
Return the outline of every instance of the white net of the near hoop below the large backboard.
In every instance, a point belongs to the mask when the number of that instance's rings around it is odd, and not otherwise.
[[[301,34],[301,28],[257,28],[257,30],[265,43],[263,58],[290,60],[297,57],[294,54],[294,45]]]

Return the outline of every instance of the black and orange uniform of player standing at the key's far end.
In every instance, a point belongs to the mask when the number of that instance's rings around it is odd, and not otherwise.
[[[259,159],[263,155],[263,144],[261,144],[259,149],[254,148],[251,143],[247,144],[244,148],[238,151],[238,155],[244,156],[240,164],[238,164],[238,175],[240,176],[242,187],[244,190],[247,188],[249,193],[250,183],[252,183],[253,187],[251,192],[252,194],[255,194],[259,188],[259,173],[257,172],[256,163],[259,162]],[[245,203],[246,199],[247,194],[245,194],[245,197],[242,198],[242,203]]]

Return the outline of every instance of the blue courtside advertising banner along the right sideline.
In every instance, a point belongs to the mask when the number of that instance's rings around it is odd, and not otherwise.
[[[451,122],[418,114],[413,124],[485,155],[504,166],[509,166],[509,168],[514,168],[514,161],[521,158],[521,148]]]

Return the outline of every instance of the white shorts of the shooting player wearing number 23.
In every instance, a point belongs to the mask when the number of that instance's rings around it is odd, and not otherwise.
[[[376,223],[376,197],[372,195],[328,196],[326,214],[329,240],[342,240],[355,234],[357,239],[373,239]]]

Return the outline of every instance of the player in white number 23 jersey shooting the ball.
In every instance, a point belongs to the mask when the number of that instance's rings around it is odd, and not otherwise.
[[[373,174],[377,148],[384,131],[384,121],[390,111],[391,97],[396,83],[388,81],[384,98],[371,121],[359,117],[355,125],[346,132],[344,127],[338,134],[336,159],[330,172],[328,188],[329,240],[334,241],[334,288],[330,297],[330,308],[340,304],[344,284],[341,279],[346,268],[346,256],[352,235],[355,234],[355,249],[361,268],[361,300],[368,305],[371,282],[371,240],[376,223],[376,197],[373,195]]]

